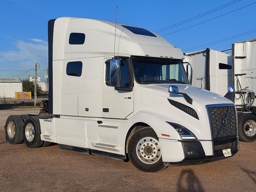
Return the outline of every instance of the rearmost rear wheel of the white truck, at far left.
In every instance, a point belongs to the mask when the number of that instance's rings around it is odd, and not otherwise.
[[[5,138],[10,144],[20,144],[23,142],[23,121],[19,115],[10,115],[5,123]]]

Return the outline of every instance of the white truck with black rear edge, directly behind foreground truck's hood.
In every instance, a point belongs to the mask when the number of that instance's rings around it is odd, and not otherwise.
[[[232,84],[231,56],[220,51],[205,49],[184,54],[184,65],[191,65],[192,84],[224,96]]]

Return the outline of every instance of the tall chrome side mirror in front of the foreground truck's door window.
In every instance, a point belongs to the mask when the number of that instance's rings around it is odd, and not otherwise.
[[[110,86],[120,86],[120,60],[110,61]]]

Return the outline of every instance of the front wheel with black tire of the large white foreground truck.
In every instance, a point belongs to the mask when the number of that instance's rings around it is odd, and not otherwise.
[[[158,136],[151,127],[144,127],[132,135],[128,155],[132,164],[141,171],[156,172],[166,167],[162,162]]]

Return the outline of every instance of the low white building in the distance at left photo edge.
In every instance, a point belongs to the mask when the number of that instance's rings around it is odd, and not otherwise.
[[[0,78],[0,98],[15,98],[15,92],[22,92],[20,78]]]

